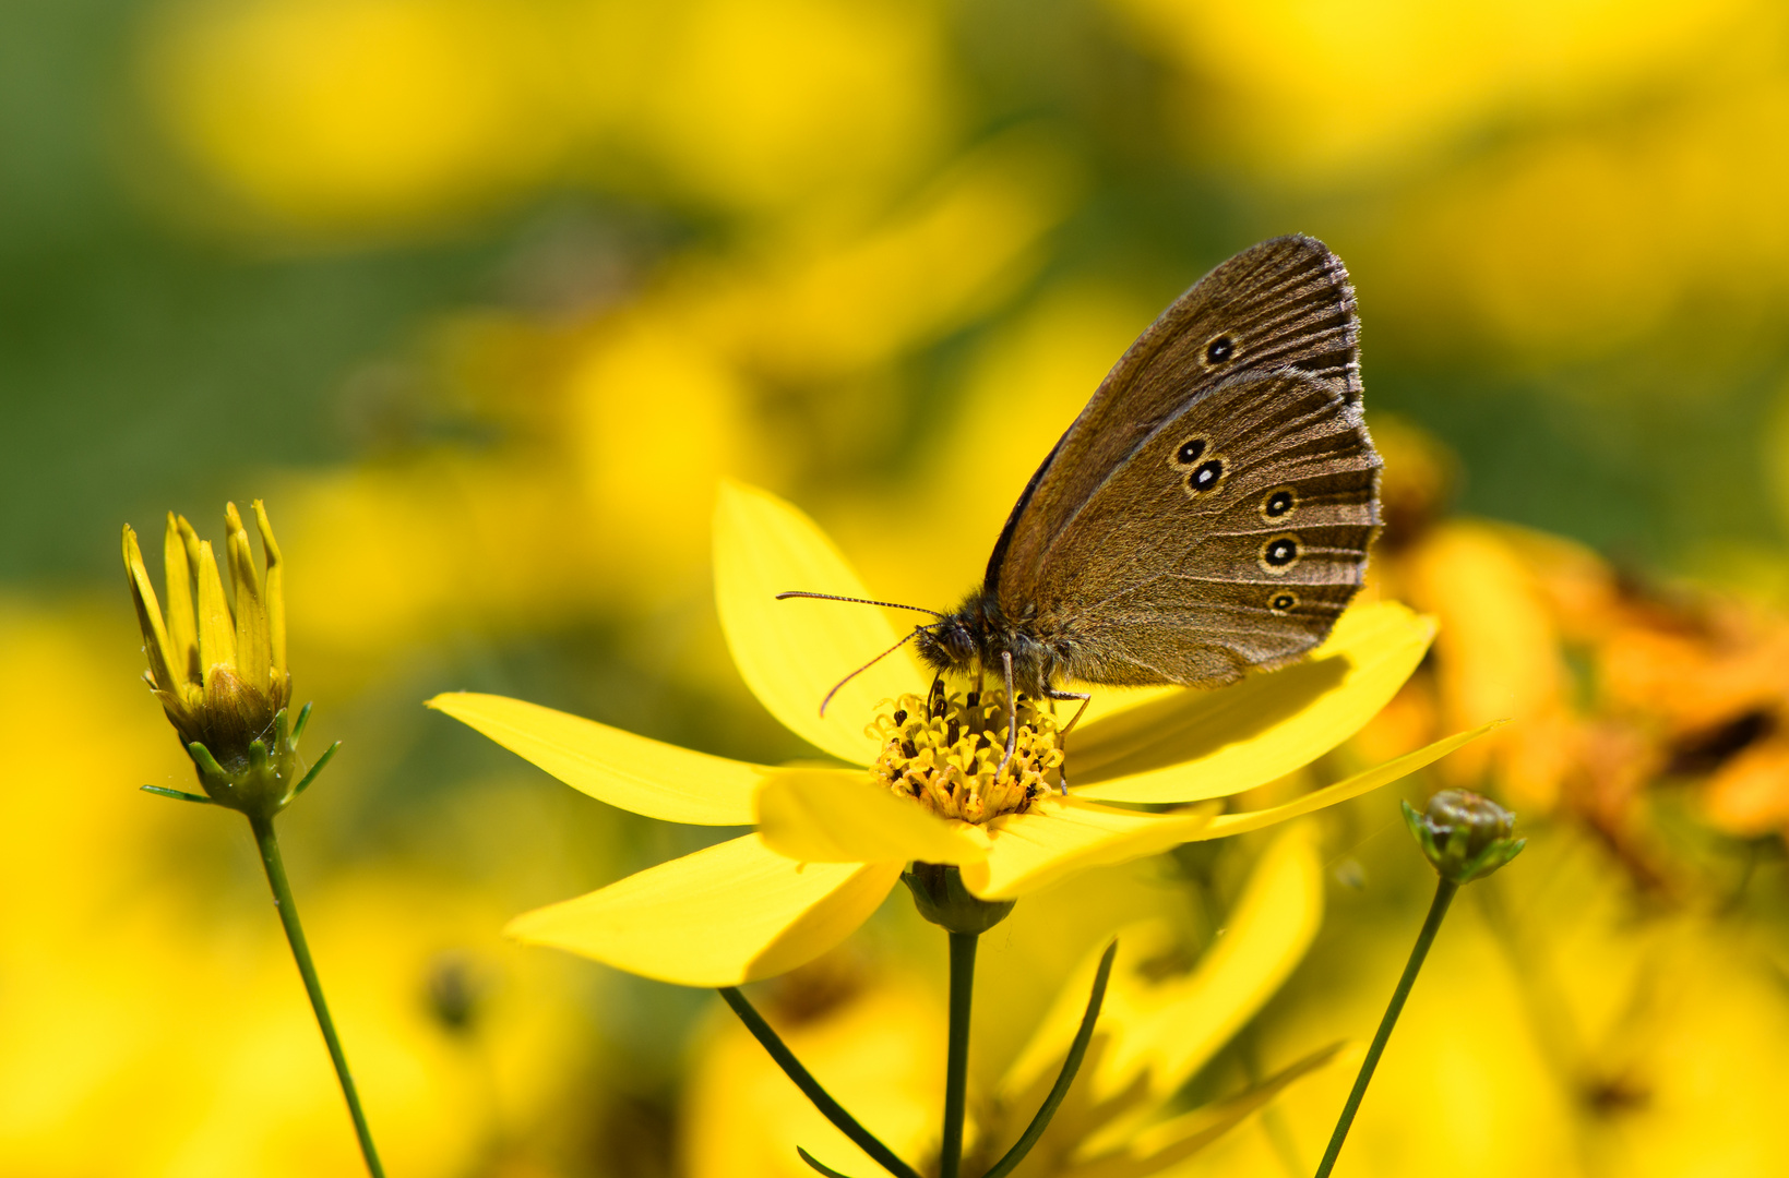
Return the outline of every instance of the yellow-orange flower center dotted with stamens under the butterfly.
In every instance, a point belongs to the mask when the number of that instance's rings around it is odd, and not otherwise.
[[[1002,813],[1025,813],[1063,779],[1063,751],[1056,717],[1020,695],[1018,744],[1002,770],[1007,722],[1005,692],[964,697],[934,681],[928,697],[902,695],[891,713],[877,717],[873,731],[882,736],[882,754],[871,772],[945,819],[980,824]]]

